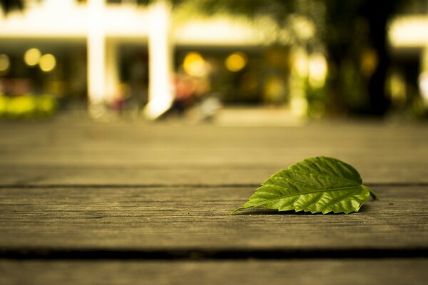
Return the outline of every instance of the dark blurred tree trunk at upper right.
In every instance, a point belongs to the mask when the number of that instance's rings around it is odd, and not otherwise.
[[[327,16],[323,36],[333,74],[329,78],[332,98],[332,113],[342,108],[351,113],[384,115],[389,107],[389,96],[385,94],[389,56],[387,52],[387,21],[400,0],[377,3],[370,0],[324,0]],[[363,24],[363,25],[362,25]],[[362,74],[362,55],[374,53],[374,70]],[[345,63],[352,62],[355,71],[355,86],[345,83]],[[358,86],[358,84],[360,84]],[[350,89],[360,88],[361,105],[352,105],[347,100]]]

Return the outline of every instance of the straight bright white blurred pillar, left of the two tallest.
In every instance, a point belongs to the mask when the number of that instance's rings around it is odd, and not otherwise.
[[[106,97],[106,46],[103,31],[104,0],[88,1],[88,98],[92,104]]]

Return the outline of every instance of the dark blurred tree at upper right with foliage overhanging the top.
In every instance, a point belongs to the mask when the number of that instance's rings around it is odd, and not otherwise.
[[[156,0],[136,0],[148,5]],[[212,15],[232,14],[248,18],[268,16],[287,29],[290,46],[308,54],[323,53],[328,77],[323,88],[306,83],[308,112],[362,113],[383,115],[390,108],[385,88],[390,59],[387,52],[387,21],[409,4],[422,1],[391,0],[373,4],[369,0],[165,0],[174,7],[192,6]],[[0,0],[4,13],[23,9],[24,1]],[[292,19],[308,19],[315,33],[310,38],[293,28]],[[278,32],[278,31],[276,31]],[[276,34],[278,43],[281,34]],[[275,45],[275,43],[273,43]],[[416,81],[416,78],[410,78]],[[421,112],[419,112],[421,113]],[[423,113],[423,112],[422,112]]]

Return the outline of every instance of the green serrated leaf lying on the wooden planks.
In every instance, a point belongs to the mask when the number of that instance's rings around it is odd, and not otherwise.
[[[255,190],[241,209],[267,209],[312,214],[358,212],[370,195],[354,167],[332,157],[312,157],[280,170]]]

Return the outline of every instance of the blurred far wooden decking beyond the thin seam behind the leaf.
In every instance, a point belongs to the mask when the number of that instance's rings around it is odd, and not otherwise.
[[[302,128],[0,123],[1,185],[258,184],[316,155],[365,182],[428,182],[427,125],[325,123]]]

